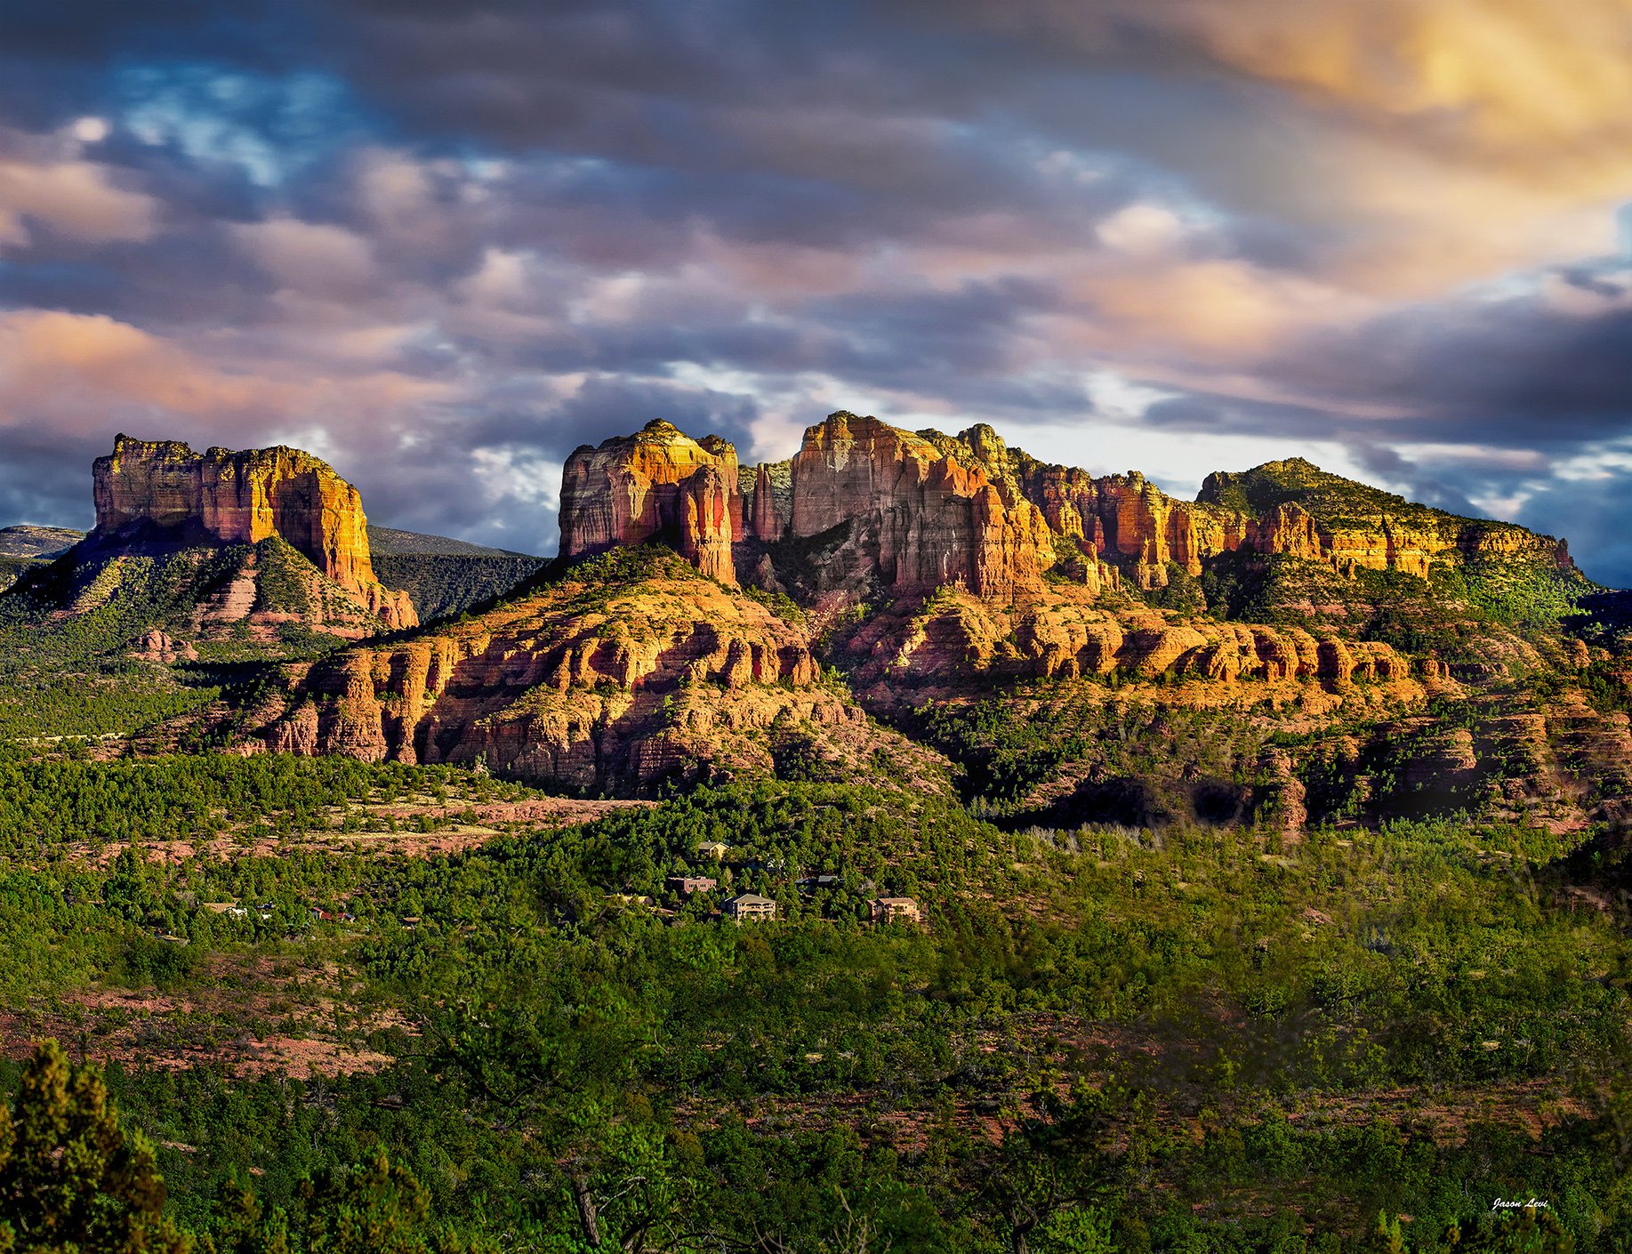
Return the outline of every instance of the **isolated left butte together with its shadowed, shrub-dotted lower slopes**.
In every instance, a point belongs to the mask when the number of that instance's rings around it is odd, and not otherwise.
[[[299,449],[119,436],[91,482],[96,529],[0,596],[31,647],[248,661],[418,622],[374,573],[357,490]]]

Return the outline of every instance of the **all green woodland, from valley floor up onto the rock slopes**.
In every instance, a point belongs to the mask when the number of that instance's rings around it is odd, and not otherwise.
[[[1580,581],[1348,580],[1356,642],[1482,676],[1433,694],[912,689],[917,774],[793,718],[774,771],[614,800],[264,751],[253,712],[346,642],[134,647],[230,557],[0,599],[0,1254],[1632,1247],[1632,674],[1559,634]],[[472,638],[566,575],[390,560]],[[615,550],[563,612],[659,573],[700,580]],[[1335,578],[1170,575],[1138,593],[1170,617],[1319,630]],[[832,642],[878,606],[743,596],[850,692]]]

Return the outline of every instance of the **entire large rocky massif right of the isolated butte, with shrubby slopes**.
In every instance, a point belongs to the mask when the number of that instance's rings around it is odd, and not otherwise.
[[[1423,797],[1541,813],[1568,792],[1547,782],[1565,767],[1519,745],[1521,696],[1466,736],[1428,710],[1608,656],[1559,635],[1557,614],[1591,589],[1562,542],[1299,460],[1213,475],[1186,503],[1138,474],[1044,465],[986,426],[912,433],[840,411],[795,457],[741,472],[726,441],[654,421],[574,451],[561,501],[560,560],[460,622],[286,665],[277,696],[237,718],[243,751],[628,795],[790,771],[945,787],[940,746],[981,798],[984,767],[955,727],[968,714],[994,753],[1015,735],[1031,746],[994,785],[1005,805],[1227,813],[1296,839],[1312,815]],[[245,552],[305,560],[277,536]],[[1263,571],[1279,571],[1275,596],[1240,612],[1231,589]],[[238,583],[217,585],[219,607],[199,598],[206,637],[245,611],[233,596],[271,609],[264,580],[253,598]],[[1495,617],[1479,607],[1501,596]],[[1513,607],[1541,603],[1555,617],[1514,630]],[[135,643],[157,663],[189,648],[175,630]],[[1124,748],[1170,740],[1178,712],[1213,748],[1102,751],[1108,730]],[[1048,736],[1027,740],[1033,720]],[[1588,736],[1591,753],[1611,741]],[[1400,743],[1412,763],[1389,758]],[[1492,763],[1532,771],[1492,790]],[[1151,789],[1167,800],[1129,802]]]

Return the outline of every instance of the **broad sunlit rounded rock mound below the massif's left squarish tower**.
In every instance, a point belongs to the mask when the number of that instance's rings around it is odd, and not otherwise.
[[[259,740],[623,794],[769,774],[801,727],[821,728],[844,776],[863,777],[880,749],[916,769],[922,751],[816,683],[801,627],[656,562],[630,583],[566,580],[400,647],[294,666]]]

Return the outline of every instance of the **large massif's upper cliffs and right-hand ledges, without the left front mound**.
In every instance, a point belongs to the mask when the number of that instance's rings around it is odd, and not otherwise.
[[[808,645],[857,705],[902,727],[991,699],[1023,717],[1049,692],[1074,692],[1080,709],[1152,700],[1265,725],[1377,723],[1550,665],[1506,629],[1479,629],[1487,661],[1397,645],[1397,624],[1374,634],[1390,596],[1430,598],[1435,571],[1487,558],[1518,562],[1565,599],[1591,588],[1560,540],[1296,459],[1214,475],[1178,501],[1136,472],[1043,464],[987,426],[914,433],[839,411],[787,462],[739,474],[723,439],[651,423],[578,449],[568,482],[563,554],[663,540],[725,588],[790,593]],[[1299,591],[1270,617],[1242,620],[1201,594],[1201,576],[1271,563]],[[1415,583],[1373,586],[1368,573]],[[1464,769],[1459,749],[1446,754],[1426,753],[1439,763],[1428,769]],[[1307,761],[1276,749],[1252,766],[1255,805],[1288,829],[1307,815]]]

